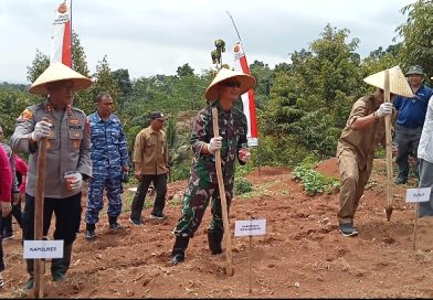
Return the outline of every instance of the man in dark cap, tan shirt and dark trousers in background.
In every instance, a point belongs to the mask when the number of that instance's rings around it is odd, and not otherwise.
[[[167,194],[168,146],[166,132],[162,130],[166,120],[161,111],[150,113],[149,127],[138,132],[134,144],[134,175],[138,180],[137,192],[130,210],[129,221],[134,225],[144,224],[141,211],[147,190],[154,183],[156,197],[150,218],[165,219],[163,214]]]

